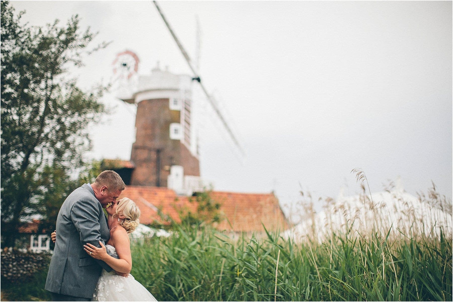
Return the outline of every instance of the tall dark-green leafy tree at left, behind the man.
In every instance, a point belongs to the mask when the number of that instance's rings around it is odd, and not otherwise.
[[[8,1],[1,1],[4,246],[14,246],[19,225],[39,200],[68,189],[68,175],[82,167],[82,154],[91,148],[87,125],[104,112],[99,99],[105,88],[84,92],[67,71],[82,66],[84,56],[107,44],[89,49],[97,33],[89,28],[80,33],[77,15],[66,26],[59,27],[55,20],[42,28],[21,25],[22,14],[14,15]]]

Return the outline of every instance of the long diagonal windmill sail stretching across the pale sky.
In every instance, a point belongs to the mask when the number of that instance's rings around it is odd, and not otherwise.
[[[225,127],[226,131],[228,132],[228,134],[230,134],[230,138],[231,140],[234,142],[234,144],[236,144],[236,147],[239,149],[239,151],[241,151],[241,153],[244,155],[244,151],[242,150],[241,148],[241,145],[239,144],[239,142],[237,141],[236,137],[234,136],[233,132],[231,131],[230,127],[228,126],[228,124],[226,124],[226,121],[225,119],[223,118],[223,115],[222,113],[220,112],[216,102],[214,101],[213,97],[207,92],[206,88],[204,87],[204,85],[202,84],[201,82],[201,79],[200,79],[200,75],[198,74],[198,70],[195,69],[195,67],[193,67],[192,65],[192,62],[190,60],[190,57],[188,55],[188,53],[186,52],[186,50],[184,49],[183,45],[179,42],[178,40],[178,37],[176,37],[176,34],[173,32],[173,29],[171,28],[170,24],[168,23],[167,19],[165,19],[165,16],[164,14],[162,13],[162,11],[160,10],[159,8],[159,5],[157,5],[157,2],[156,1],[153,1],[154,5],[156,6],[156,9],[159,11],[159,14],[160,16],[162,17],[162,19],[164,20],[164,23],[165,25],[167,26],[167,28],[169,29],[169,32],[170,34],[173,36],[173,39],[174,41],[176,42],[176,44],[178,45],[178,48],[179,50],[181,51],[181,53],[183,54],[183,57],[186,59],[186,62],[187,64],[189,65],[189,68],[190,70],[192,70],[193,72],[193,79],[198,81],[198,83],[200,84],[200,87],[202,89],[202,91],[204,92],[204,94],[206,95],[207,97],[207,100],[209,101],[209,103],[211,104],[212,108],[214,109],[214,111],[216,112],[217,114],[217,117],[222,121],[222,124],[223,126]]]

